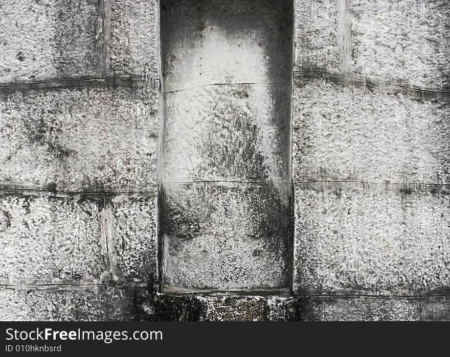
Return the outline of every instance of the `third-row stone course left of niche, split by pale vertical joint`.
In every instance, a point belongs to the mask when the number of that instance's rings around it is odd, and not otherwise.
[[[0,197],[0,281],[147,282],[156,273],[155,198]]]

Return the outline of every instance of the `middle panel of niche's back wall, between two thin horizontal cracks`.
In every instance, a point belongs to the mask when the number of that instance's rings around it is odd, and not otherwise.
[[[288,181],[290,85],[166,93],[164,181]]]

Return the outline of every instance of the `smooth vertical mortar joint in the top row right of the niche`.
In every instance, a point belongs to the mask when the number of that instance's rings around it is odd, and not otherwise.
[[[351,32],[350,7],[351,0],[338,0],[338,45],[341,70],[344,74],[351,73],[353,67],[353,40]]]

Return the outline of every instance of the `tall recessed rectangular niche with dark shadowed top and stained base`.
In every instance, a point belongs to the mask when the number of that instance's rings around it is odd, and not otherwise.
[[[290,287],[292,0],[163,0],[162,290]]]

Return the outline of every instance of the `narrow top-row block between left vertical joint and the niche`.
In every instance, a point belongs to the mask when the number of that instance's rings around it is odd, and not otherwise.
[[[111,0],[110,38],[106,40],[111,73],[158,76],[159,5],[157,0]]]

